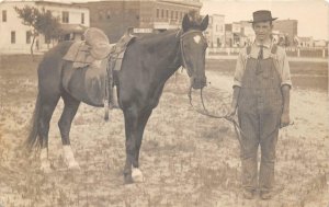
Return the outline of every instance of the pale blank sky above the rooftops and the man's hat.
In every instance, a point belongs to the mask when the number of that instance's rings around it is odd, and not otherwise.
[[[0,0],[1,2],[2,0]],[[64,1],[64,0],[53,0]],[[94,0],[69,0],[71,2]],[[202,14],[224,14],[225,23],[251,20],[257,10],[271,10],[279,20],[297,20],[298,36],[329,41],[329,0],[201,0]]]

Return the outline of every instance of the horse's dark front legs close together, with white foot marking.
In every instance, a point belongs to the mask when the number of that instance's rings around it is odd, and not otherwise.
[[[139,149],[143,134],[151,110],[140,113],[137,110],[124,111],[126,131],[126,163],[124,168],[125,183],[141,182],[143,173],[138,169]]]

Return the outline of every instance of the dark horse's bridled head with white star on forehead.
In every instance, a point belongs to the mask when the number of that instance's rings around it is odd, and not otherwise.
[[[188,70],[193,89],[202,89],[206,85],[205,77],[205,50],[206,38],[203,35],[208,26],[208,15],[197,20],[189,14],[182,22],[182,35],[180,39],[182,65]]]

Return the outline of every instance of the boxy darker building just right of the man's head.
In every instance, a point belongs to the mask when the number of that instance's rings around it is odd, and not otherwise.
[[[273,21],[273,30],[279,31],[285,38],[285,45],[294,45],[294,37],[297,36],[297,20],[276,20]]]

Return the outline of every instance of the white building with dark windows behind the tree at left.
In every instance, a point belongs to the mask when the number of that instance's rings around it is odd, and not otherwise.
[[[26,54],[32,43],[32,27],[23,25],[14,8],[25,5],[52,11],[60,20],[64,39],[79,39],[83,31],[89,27],[89,9],[72,3],[52,1],[2,1],[0,2],[0,53]],[[54,45],[43,35],[36,37],[34,51],[44,51]]]

